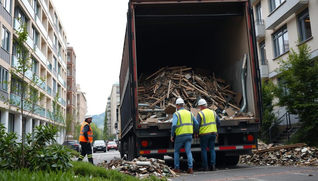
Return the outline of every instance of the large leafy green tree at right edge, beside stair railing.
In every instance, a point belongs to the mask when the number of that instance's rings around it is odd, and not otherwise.
[[[279,99],[277,105],[286,106],[291,114],[297,114],[303,128],[299,140],[308,145],[318,143],[318,58],[310,59],[307,44],[298,41],[297,52],[291,48],[287,60],[279,60],[276,69],[281,81],[273,93]]]

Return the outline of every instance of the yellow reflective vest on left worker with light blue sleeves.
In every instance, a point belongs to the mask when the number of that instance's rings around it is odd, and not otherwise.
[[[190,111],[181,109],[175,114],[178,116],[176,135],[193,133],[193,114]]]

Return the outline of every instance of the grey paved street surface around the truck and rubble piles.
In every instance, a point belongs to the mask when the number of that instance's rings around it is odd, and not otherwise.
[[[94,164],[104,160],[111,160],[115,157],[120,158],[118,151],[108,151],[93,153]],[[174,160],[165,156],[166,165],[173,168]],[[84,158],[87,162],[87,158]],[[317,167],[293,167],[293,166],[255,166],[238,164],[235,166],[219,166],[217,171],[200,172],[197,171],[201,163],[193,162],[194,174],[185,174],[187,169],[187,160],[180,159],[180,169],[183,174],[178,178],[170,178],[173,181],[197,180],[197,181],[317,181]],[[312,176],[309,176],[312,175]]]

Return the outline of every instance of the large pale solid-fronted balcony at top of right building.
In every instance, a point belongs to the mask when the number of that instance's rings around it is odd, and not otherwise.
[[[309,0],[285,0],[266,17],[266,29],[275,29],[289,16],[301,10]]]

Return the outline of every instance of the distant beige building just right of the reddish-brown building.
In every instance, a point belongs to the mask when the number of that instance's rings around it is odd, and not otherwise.
[[[81,92],[80,85],[76,84],[76,121],[82,124],[87,113],[86,93]]]

